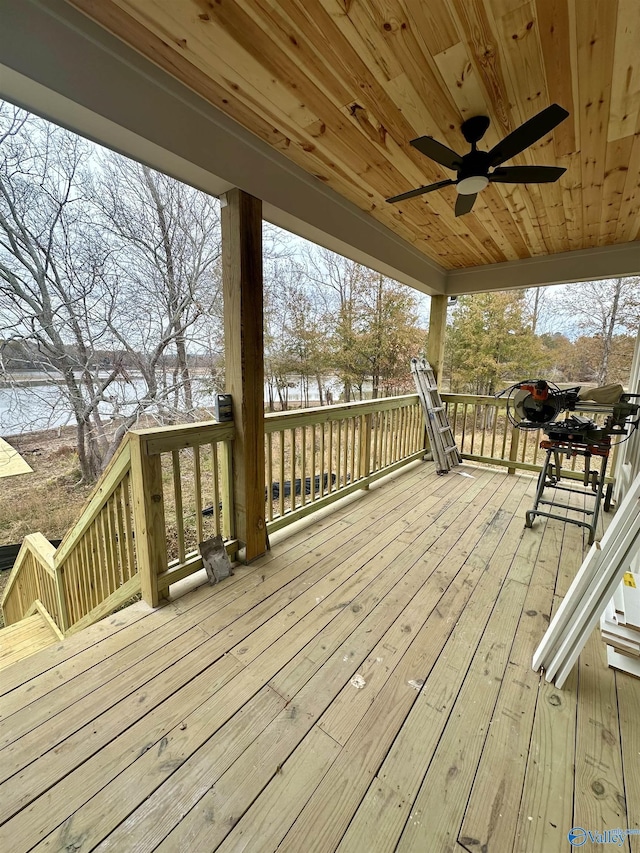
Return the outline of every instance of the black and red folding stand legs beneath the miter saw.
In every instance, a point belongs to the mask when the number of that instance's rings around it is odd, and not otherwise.
[[[526,513],[525,527],[532,527],[533,519],[537,515],[544,516],[545,518],[555,518],[559,521],[564,521],[567,524],[577,524],[579,527],[586,527],[589,531],[589,545],[593,545],[593,541],[596,535],[596,527],[598,524],[598,516],[600,514],[600,504],[602,502],[602,496],[604,493],[607,462],[609,461],[609,451],[611,449],[610,442],[602,441],[589,444],[586,442],[576,441],[575,439],[550,439],[548,441],[541,441],[540,447],[543,450],[547,451],[547,455],[545,457],[544,465],[542,466],[542,471],[540,472],[540,476],[538,478],[538,489],[536,492],[536,498],[533,504],[533,509],[528,510]],[[591,493],[586,491],[586,488],[573,489],[570,486],[559,485],[560,479],[562,477],[561,458],[563,456],[567,459],[571,459],[576,456],[584,457],[583,482],[585,487],[591,487]],[[602,459],[600,471],[597,471],[596,469],[591,469],[591,458],[593,456],[598,456]],[[544,490],[547,488],[558,489],[564,492],[573,492],[575,494],[584,495],[587,497],[593,497],[595,504],[592,509],[580,509],[579,507],[560,503],[556,500],[547,500],[543,497]],[[605,512],[609,512],[609,509],[611,508],[611,491],[612,487],[611,485],[609,485],[605,494]],[[544,512],[538,509],[540,505],[558,507],[560,509],[571,510],[572,512],[579,512],[586,516],[587,520],[582,521],[580,519],[566,518],[562,515],[555,515],[552,512]]]

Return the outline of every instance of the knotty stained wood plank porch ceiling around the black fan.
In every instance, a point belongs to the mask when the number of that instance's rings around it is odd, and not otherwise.
[[[69,0],[447,269],[640,239],[639,0]],[[570,117],[455,218],[409,140],[488,148],[550,103]],[[212,152],[212,168],[215,152]]]

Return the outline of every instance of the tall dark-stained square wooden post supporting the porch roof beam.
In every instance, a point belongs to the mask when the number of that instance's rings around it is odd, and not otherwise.
[[[225,386],[233,397],[236,536],[249,562],[267,548],[264,519],[262,204],[242,190],[222,199]]]

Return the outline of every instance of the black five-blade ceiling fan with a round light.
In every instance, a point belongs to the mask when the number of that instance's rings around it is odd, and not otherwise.
[[[441,187],[455,185],[458,193],[456,216],[462,216],[464,213],[470,212],[478,193],[490,183],[548,184],[557,181],[566,169],[556,166],[502,166],[501,164],[542,139],[560,122],[564,121],[568,115],[569,113],[558,104],[551,104],[512,131],[497,145],[494,145],[491,151],[478,151],[477,148],[477,143],[487,132],[490,124],[487,116],[473,116],[462,123],[460,127],[462,135],[471,145],[471,151],[464,155],[456,154],[451,148],[447,148],[446,145],[442,145],[431,136],[420,136],[418,139],[412,139],[411,145],[414,148],[446,169],[455,171],[457,179],[438,181],[426,187],[418,187],[415,190],[409,190],[409,192],[388,198],[387,201],[393,204],[397,201],[405,201],[408,198],[433,192],[433,190],[439,190]]]

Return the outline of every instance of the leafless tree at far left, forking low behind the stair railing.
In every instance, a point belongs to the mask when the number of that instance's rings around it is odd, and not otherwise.
[[[110,249],[91,226],[88,144],[8,105],[0,121],[2,338],[28,342],[38,367],[61,376],[83,477],[92,479],[104,453],[99,404],[119,365],[98,375],[93,359],[106,334]]]

